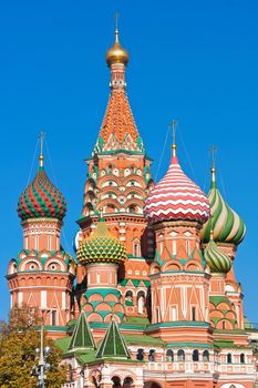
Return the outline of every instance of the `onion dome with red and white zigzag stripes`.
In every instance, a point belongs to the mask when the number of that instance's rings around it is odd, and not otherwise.
[[[166,175],[149,193],[144,213],[151,222],[182,219],[203,224],[209,217],[209,202],[173,156]]]

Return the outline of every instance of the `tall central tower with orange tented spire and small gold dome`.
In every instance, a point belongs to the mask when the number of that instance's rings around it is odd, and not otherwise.
[[[128,52],[123,49],[115,29],[115,42],[106,52],[111,71],[111,94],[92,153],[84,190],[82,233],[90,236],[100,213],[106,225],[133,257],[152,257],[143,215],[144,200],[152,188],[151,160],[146,156],[126,94],[125,70]]]

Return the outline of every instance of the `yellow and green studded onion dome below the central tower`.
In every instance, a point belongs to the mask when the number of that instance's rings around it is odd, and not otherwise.
[[[124,245],[113,236],[104,221],[100,221],[96,231],[78,248],[80,263],[121,263],[127,257]]]

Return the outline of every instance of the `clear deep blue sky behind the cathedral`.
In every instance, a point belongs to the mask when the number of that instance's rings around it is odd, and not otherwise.
[[[245,219],[236,274],[245,312],[257,313],[258,2],[256,0],[8,0],[0,2],[1,314],[4,275],[22,248],[16,213],[31,171],[38,134],[48,135],[49,176],[69,204],[63,245],[72,252],[86,167],[109,96],[104,54],[118,11],[131,60],[127,91],[153,175],[167,169],[167,125],[179,121],[185,172],[207,191],[208,149],[218,147],[218,183]],[[183,142],[182,140],[183,139]],[[48,155],[47,155],[48,156]],[[33,164],[32,175],[35,174]],[[65,243],[66,241],[66,243]]]

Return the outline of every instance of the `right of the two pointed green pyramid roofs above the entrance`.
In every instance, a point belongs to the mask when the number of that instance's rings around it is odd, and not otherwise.
[[[111,325],[96,351],[96,358],[105,357],[131,358],[123,335],[114,320],[111,321]]]

